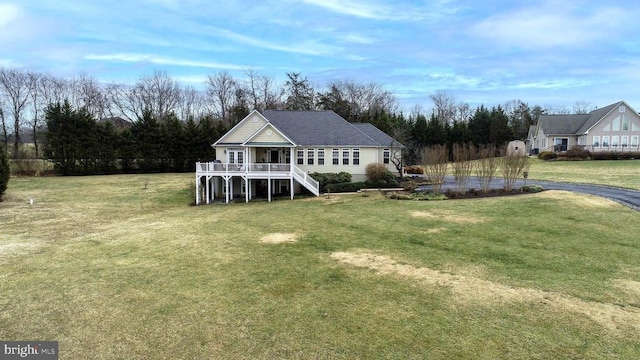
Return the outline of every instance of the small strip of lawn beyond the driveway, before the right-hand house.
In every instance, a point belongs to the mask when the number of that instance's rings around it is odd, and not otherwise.
[[[640,190],[640,160],[542,161],[531,159],[530,178],[606,184]]]

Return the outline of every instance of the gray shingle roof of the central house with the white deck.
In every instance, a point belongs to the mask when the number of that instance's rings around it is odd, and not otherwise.
[[[300,146],[378,147],[389,146],[392,141],[391,137],[373,125],[371,125],[373,129],[367,126],[365,130],[362,130],[331,110],[266,110],[262,115],[285,136]],[[387,137],[383,137],[378,132]],[[389,140],[389,142],[382,144],[379,142],[380,140]]]

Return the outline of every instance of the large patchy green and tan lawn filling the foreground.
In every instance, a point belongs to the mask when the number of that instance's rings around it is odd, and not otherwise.
[[[640,216],[614,202],[193,207],[191,181],[11,179],[0,339],[61,359],[640,357]]]

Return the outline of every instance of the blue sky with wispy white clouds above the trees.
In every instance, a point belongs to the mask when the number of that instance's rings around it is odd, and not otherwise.
[[[640,2],[0,0],[0,66],[185,85],[252,68],[283,82],[376,82],[401,108],[429,95],[640,108]]]

